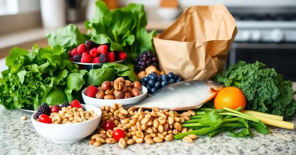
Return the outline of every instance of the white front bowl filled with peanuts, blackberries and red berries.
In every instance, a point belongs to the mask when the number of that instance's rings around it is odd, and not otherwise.
[[[31,116],[35,130],[44,138],[56,143],[81,141],[98,127],[102,111],[78,100],[70,104],[49,106],[43,103]]]

